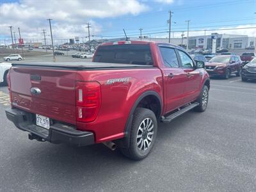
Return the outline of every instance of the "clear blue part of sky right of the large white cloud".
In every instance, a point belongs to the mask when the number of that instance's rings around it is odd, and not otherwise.
[[[172,4],[148,1],[147,5],[150,10],[140,15],[97,19],[96,21],[101,22],[104,26],[102,34],[113,35],[115,33],[114,35],[118,35],[122,33],[122,28],[125,28],[128,34],[139,33],[139,28],[143,28],[143,33],[166,31],[168,30],[166,20],[168,20],[169,10],[172,10],[172,20],[176,22],[176,24],[172,23],[173,31],[186,31],[187,23],[185,20],[191,20],[191,30],[233,28],[245,24],[256,24],[256,14],[254,14],[256,1],[184,0],[173,1]],[[154,35],[163,36],[160,33]]]

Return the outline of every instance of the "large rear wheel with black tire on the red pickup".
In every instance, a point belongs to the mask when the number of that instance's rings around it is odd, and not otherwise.
[[[142,128],[143,122],[146,122],[145,124],[147,124],[147,120],[148,120],[148,124],[150,124],[150,120],[151,120],[151,124],[148,126],[148,128],[152,128],[152,129],[148,129],[147,126],[146,127],[144,126],[144,128]],[[141,132],[141,134],[139,134],[139,132]],[[140,135],[141,137],[138,138]],[[150,142],[149,145],[147,144],[147,148],[146,148],[145,140],[148,140],[149,135],[152,136],[152,138],[151,138],[151,141],[149,141]],[[156,141],[156,136],[157,136],[156,115],[150,109],[137,108],[132,118],[132,125],[131,125],[131,131],[130,131],[130,146],[129,148],[120,148],[120,150],[122,154],[124,154],[124,156],[128,157],[129,159],[133,159],[137,161],[144,159],[145,157],[148,156],[148,154],[152,150],[152,147],[154,146],[154,143]],[[143,148],[143,146],[145,147]]]

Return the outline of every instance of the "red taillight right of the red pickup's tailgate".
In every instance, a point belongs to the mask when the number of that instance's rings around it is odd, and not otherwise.
[[[96,81],[77,81],[76,119],[78,122],[92,122],[100,109],[100,84]]]

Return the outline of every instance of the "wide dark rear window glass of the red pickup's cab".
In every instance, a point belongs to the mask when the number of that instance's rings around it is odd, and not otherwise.
[[[94,62],[153,65],[149,45],[106,45],[100,46],[94,56]]]

